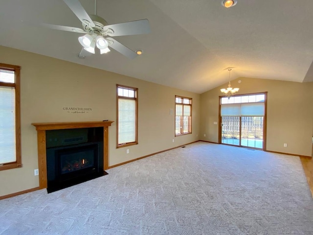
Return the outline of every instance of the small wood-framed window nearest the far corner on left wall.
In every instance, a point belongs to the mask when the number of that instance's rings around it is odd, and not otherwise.
[[[175,95],[175,136],[191,133],[192,98]]]

